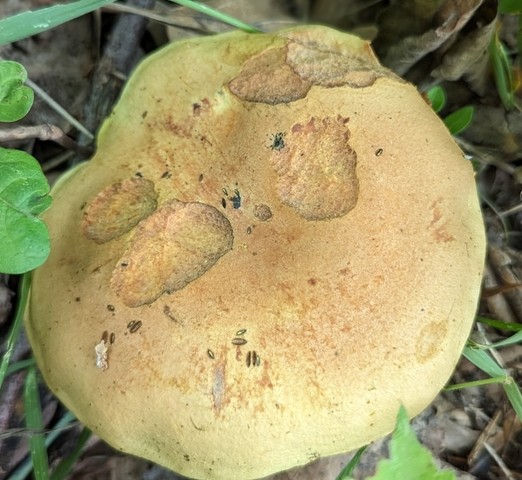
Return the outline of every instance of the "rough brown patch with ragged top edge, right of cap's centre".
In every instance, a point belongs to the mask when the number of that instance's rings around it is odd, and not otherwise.
[[[306,220],[341,217],[357,203],[357,155],[346,123],[341,116],[312,117],[295,124],[285,148],[272,153],[281,201]]]

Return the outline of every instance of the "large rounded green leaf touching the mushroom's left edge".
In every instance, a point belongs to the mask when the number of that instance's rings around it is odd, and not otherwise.
[[[49,256],[49,232],[38,218],[51,205],[49,190],[31,155],[0,148],[0,272],[24,273]]]

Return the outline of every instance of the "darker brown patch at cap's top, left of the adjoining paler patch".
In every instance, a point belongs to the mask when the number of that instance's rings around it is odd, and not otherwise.
[[[306,97],[312,84],[286,63],[286,48],[272,48],[245,62],[228,88],[246,102],[288,103]]]

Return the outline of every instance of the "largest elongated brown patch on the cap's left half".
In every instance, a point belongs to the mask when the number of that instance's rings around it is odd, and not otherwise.
[[[152,303],[203,275],[233,238],[230,222],[214,207],[171,200],[138,225],[111,286],[129,307]]]

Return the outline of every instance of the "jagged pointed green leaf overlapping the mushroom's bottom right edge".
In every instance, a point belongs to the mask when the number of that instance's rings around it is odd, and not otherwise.
[[[390,459],[377,466],[371,480],[455,480],[453,472],[438,470],[433,456],[424,448],[413,432],[403,406],[390,441]]]

